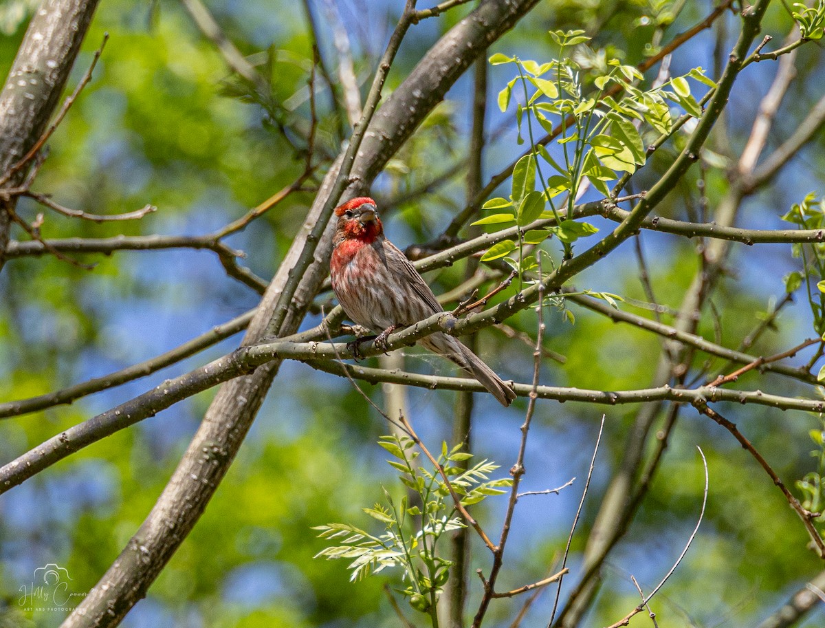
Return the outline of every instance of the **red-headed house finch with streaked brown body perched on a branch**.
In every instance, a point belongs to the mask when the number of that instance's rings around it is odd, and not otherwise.
[[[389,333],[408,327],[444,309],[413,264],[388,239],[371,198],[354,198],[335,210],[338,217],[332,240],[332,290],[347,316],[386,342]],[[516,393],[461,342],[436,332],[421,344],[454,361],[504,405]],[[356,344],[357,349],[357,344]]]

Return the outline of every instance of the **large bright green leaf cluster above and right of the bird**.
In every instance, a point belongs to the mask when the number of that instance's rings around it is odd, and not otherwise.
[[[523,245],[540,244],[554,235],[563,244],[568,257],[577,239],[595,234],[598,229],[592,224],[561,220],[554,199],[566,194],[570,215],[586,182],[603,196],[615,196],[618,190],[611,191],[608,182],[633,174],[647,160],[640,132],[643,125],[659,134],[672,133],[673,118],[667,102],[681,107],[691,116],[702,115],[687,79],[715,87],[702,68],[693,68],[683,76],[673,77],[646,91],[637,87],[643,82],[642,73],[632,65],[621,64],[618,59],[606,61],[606,72],[591,68],[592,71],[586,73],[575,60],[564,54],[566,49],[590,40],[583,32],[550,31],[550,37],[560,47],[559,58],[544,64],[501,53],[493,54],[489,59],[493,65],[516,66],[518,74],[498,93],[498,106],[506,111],[514,90],[521,88],[524,101],[516,105],[518,143],[524,142],[522,132],[526,126],[530,153],[513,169],[510,198],[487,201],[482,209],[495,210],[495,213],[474,224],[497,225],[499,229],[513,225],[523,228],[540,218],[555,218],[557,224],[520,234],[518,243],[513,240],[497,243],[483,255],[483,262],[505,257],[516,248],[521,253]],[[586,87],[590,83],[595,89],[588,91]],[[557,150],[554,151],[557,155],[560,153],[558,158],[536,141],[533,120],[549,136],[558,136]],[[542,163],[554,171],[549,177],[544,177]],[[538,189],[536,177],[540,182]],[[546,205],[549,210],[545,209]],[[522,262],[514,262],[513,267],[522,272],[529,270],[535,262],[528,260],[525,264],[523,256],[519,257]]]

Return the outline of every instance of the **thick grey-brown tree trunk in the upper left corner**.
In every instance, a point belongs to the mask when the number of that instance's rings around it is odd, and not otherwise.
[[[0,92],[0,176],[43,135],[96,7],[97,0],[44,0],[31,18]],[[27,170],[9,183],[21,182]],[[15,205],[15,198],[0,199],[0,268]]]

